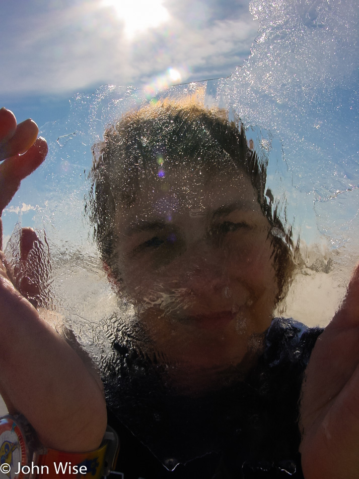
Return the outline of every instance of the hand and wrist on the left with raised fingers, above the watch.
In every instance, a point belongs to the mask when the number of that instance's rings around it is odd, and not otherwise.
[[[0,164],[0,212],[46,156],[46,142],[36,140],[37,134],[31,120],[17,125],[12,112],[0,110],[0,159],[5,160]],[[1,238],[0,231],[0,242]],[[25,233],[26,238],[24,255],[35,241],[33,232]],[[96,449],[107,422],[101,382],[39,317],[8,273],[0,252],[0,392],[8,409],[23,413],[48,447],[69,452]]]

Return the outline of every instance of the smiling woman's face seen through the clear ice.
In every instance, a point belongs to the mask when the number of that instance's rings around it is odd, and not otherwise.
[[[247,363],[278,293],[270,225],[248,176],[227,163],[216,174],[163,168],[116,211],[125,293],[183,381]]]

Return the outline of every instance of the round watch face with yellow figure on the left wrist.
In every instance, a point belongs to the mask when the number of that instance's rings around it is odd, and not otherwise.
[[[27,462],[25,438],[17,422],[12,417],[2,418],[0,420],[0,479],[23,479],[25,474],[22,468],[27,465]]]

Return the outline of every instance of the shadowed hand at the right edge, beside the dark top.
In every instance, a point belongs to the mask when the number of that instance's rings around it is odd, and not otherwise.
[[[303,384],[302,467],[306,479],[359,475],[359,266],[313,349]]]

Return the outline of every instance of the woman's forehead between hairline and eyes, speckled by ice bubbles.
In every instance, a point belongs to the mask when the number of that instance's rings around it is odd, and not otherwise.
[[[171,221],[236,208],[262,215],[250,178],[235,165],[222,165],[217,171],[205,166],[160,168],[141,179],[131,206],[116,208],[116,224],[152,218]]]

